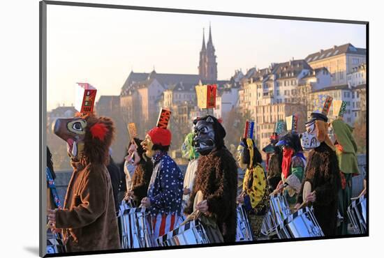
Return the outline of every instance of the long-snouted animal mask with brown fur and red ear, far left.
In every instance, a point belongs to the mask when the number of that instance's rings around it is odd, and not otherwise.
[[[85,157],[89,162],[108,162],[108,149],[115,127],[111,119],[94,114],[73,119],[57,119],[54,134],[64,139],[68,155],[74,160]]]

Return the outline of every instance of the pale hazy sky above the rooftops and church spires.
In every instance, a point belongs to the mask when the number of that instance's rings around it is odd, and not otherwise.
[[[366,47],[365,25],[47,6],[47,109],[71,105],[75,83],[119,95],[131,70],[198,74],[209,22],[219,79],[236,69],[304,59],[333,45]]]

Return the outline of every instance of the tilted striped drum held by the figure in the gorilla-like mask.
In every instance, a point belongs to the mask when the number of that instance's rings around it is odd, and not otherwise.
[[[158,246],[198,245],[209,242],[205,227],[200,220],[190,220],[156,239]]]

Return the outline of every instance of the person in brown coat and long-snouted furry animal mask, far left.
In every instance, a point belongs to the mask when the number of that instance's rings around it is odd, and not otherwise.
[[[73,174],[64,207],[48,210],[50,227],[61,229],[68,252],[120,248],[108,149],[115,134],[111,119],[87,114],[57,119],[54,134],[67,143]]]

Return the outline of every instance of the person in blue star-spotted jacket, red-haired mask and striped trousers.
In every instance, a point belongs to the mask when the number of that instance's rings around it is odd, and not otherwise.
[[[154,164],[147,197],[142,199],[141,204],[151,212],[155,239],[175,229],[182,215],[184,177],[167,153],[170,141],[170,130],[155,127],[141,142],[145,155],[152,158]]]

